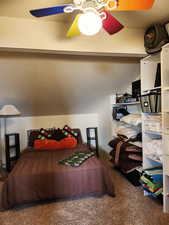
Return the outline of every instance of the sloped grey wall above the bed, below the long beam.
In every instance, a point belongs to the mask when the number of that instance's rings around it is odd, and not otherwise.
[[[23,116],[97,112],[96,105],[139,74],[136,59],[0,53],[0,107]]]

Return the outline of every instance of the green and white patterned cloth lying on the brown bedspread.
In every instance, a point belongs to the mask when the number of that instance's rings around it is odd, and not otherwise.
[[[78,167],[94,155],[94,152],[75,152],[71,156],[59,161],[58,164],[64,166]]]

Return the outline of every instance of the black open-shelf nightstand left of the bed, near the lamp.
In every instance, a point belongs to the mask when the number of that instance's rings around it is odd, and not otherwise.
[[[5,152],[6,170],[10,172],[20,157],[20,140],[18,133],[5,135]]]

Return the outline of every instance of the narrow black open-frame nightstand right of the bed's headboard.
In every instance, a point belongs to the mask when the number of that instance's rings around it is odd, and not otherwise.
[[[98,143],[98,131],[97,127],[86,128],[87,145],[90,150],[95,151],[97,157],[99,157],[99,143]],[[93,146],[94,142],[94,146]],[[94,150],[93,150],[94,147]]]

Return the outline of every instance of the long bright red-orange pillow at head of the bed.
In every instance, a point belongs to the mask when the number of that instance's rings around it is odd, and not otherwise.
[[[35,140],[34,149],[35,150],[62,150],[71,149],[77,146],[77,140],[74,137],[67,137],[61,141],[56,140]]]

